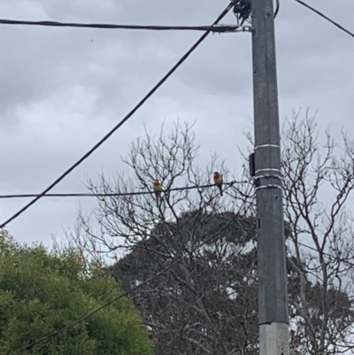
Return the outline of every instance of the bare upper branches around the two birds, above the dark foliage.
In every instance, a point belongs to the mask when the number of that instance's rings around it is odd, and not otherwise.
[[[117,174],[115,178],[106,178],[102,174],[98,181],[90,180],[88,188],[96,194],[127,193],[142,191],[147,194],[125,197],[97,197],[98,207],[92,214],[99,226],[93,230],[90,217],[79,213],[78,228],[71,236],[81,249],[98,257],[120,259],[135,244],[151,237],[151,230],[162,220],[165,223],[179,223],[179,215],[183,212],[226,212],[243,209],[248,215],[253,214],[251,183],[243,178],[243,183],[233,184],[232,176],[223,161],[212,156],[208,166],[196,165],[199,147],[192,133],[193,125],[177,122],[169,134],[162,127],[158,136],[151,136],[147,131],[145,138],[138,138],[130,146],[127,157],[122,158],[128,166],[130,174]],[[212,172],[220,170],[224,181],[230,184],[226,189],[226,197],[219,197],[218,189],[199,188],[212,183]],[[151,191],[152,182],[158,178],[163,189],[181,189],[163,194],[158,206]],[[235,198],[235,192],[240,196]],[[176,231],[181,226],[176,227]]]

